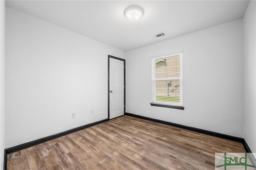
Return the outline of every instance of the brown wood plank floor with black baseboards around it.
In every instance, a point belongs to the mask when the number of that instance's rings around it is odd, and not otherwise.
[[[8,154],[8,170],[213,170],[215,152],[241,143],[122,116]]]

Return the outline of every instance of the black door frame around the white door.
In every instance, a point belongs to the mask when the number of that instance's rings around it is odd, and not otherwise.
[[[109,62],[110,62],[110,60],[109,59],[110,58],[124,61],[124,114],[125,114],[125,107],[126,107],[126,105],[125,105],[125,88],[126,88],[126,85],[125,85],[125,59],[120,59],[118,57],[108,55],[108,120],[109,120],[109,108],[110,108],[109,107],[109,104],[110,104],[110,101],[109,101],[109,98],[110,98],[110,96],[109,96],[109,93],[110,93],[110,89],[109,89]]]

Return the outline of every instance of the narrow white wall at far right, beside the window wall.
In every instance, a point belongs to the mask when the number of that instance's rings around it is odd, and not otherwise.
[[[256,153],[256,10],[251,0],[243,18],[244,45],[244,139]]]

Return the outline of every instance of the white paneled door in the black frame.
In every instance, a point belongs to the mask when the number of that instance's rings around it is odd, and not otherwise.
[[[124,115],[124,61],[109,58],[109,119]]]

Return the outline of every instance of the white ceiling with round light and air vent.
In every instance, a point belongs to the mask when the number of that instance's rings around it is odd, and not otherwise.
[[[13,1],[6,6],[124,51],[243,18],[249,1]],[[144,15],[124,16],[131,5]],[[165,32],[164,37],[152,35]]]

